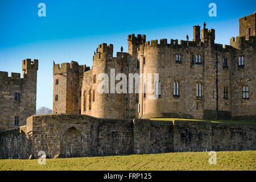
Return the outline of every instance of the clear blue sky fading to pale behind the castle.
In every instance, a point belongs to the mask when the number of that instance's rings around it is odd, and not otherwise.
[[[46,16],[39,16],[39,3]],[[216,3],[217,16],[209,16]],[[127,52],[127,36],[144,34],[147,40],[193,39],[193,26],[207,23],[216,31],[216,43],[229,45],[239,36],[239,18],[256,11],[256,1],[80,1],[0,0],[0,71],[21,73],[22,60],[38,59],[37,109],[52,109],[53,60],[92,66],[101,43],[115,52]]]

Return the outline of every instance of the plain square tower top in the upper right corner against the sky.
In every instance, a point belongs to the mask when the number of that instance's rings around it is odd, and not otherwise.
[[[245,36],[246,40],[249,36],[256,36],[256,12],[254,14],[244,16],[239,19],[240,36]]]

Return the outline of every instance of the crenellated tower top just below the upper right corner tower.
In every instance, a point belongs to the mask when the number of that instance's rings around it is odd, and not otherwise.
[[[249,40],[246,40],[245,36],[237,36],[236,39],[232,37],[230,39],[230,46],[237,49],[256,47],[256,36],[249,36]]]

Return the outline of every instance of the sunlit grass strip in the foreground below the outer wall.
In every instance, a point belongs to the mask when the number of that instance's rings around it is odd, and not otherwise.
[[[148,155],[88,158],[0,160],[0,170],[256,170],[256,151],[217,152],[217,164],[210,165],[208,152],[179,152]]]

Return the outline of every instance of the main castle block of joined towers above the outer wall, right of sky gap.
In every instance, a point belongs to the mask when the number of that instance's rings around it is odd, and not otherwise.
[[[53,113],[87,114],[97,118],[197,118],[255,120],[256,13],[240,18],[240,36],[230,46],[214,43],[215,30],[193,26],[193,41],[146,41],[128,36],[129,51],[103,43],[92,69],[69,63],[53,65]],[[200,37],[201,34],[201,37]],[[218,61],[216,61],[218,60]],[[148,99],[146,81],[139,93],[98,93],[100,73],[159,73],[159,97]],[[127,87],[129,82],[127,78]],[[115,80],[115,84],[118,81]],[[110,83],[108,85],[110,87]],[[143,90],[144,89],[144,90]]]

